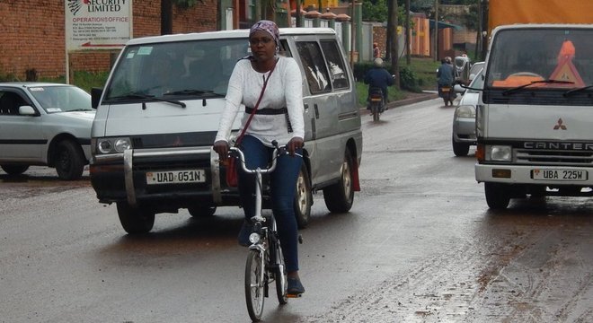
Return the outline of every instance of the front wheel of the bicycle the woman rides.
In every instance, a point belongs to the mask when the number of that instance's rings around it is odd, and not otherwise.
[[[253,322],[261,319],[263,313],[264,295],[264,268],[261,261],[261,253],[257,250],[250,250],[245,264],[245,301],[247,311]]]

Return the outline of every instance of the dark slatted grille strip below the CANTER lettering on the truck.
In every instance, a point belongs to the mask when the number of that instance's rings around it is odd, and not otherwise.
[[[536,165],[593,165],[593,152],[515,149],[515,162]]]

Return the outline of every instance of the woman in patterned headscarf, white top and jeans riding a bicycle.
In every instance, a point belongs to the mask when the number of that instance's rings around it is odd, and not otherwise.
[[[302,77],[294,58],[277,55],[279,29],[276,23],[260,21],[253,24],[249,43],[252,55],[236,63],[228,83],[226,105],[214,150],[222,161],[226,160],[228,138],[241,104],[245,106],[242,128],[250,114],[254,113],[239,144],[247,168],[267,168],[273,140],[286,145],[288,154],[278,157],[276,170],[270,174],[270,197],[288,271],[288,293],[300,294],[305,292],[305,288],[298,276],[298,231],[293,201],[298,172],[303,162],[297,154],[302,155],[305,136]],[[267,84],[262,92],[264,83]],[[253,107],[256,107],[255,111]],[[239,232],[239,244],[242,246],[249,245],[251,218],[255,214],[253,176],[238,171],[238,188],[245,214]]]

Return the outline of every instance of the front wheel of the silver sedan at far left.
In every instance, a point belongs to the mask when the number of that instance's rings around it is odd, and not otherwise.
[[[59,142],[56,147],[56,170],[60,179],[80,179],[84,170],[83,150],[70,140]]]

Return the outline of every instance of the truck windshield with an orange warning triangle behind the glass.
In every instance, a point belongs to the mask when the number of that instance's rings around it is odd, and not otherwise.
[[[502,30],[493,39],[486,87],[562,89],[593,83],[593,29]]]

